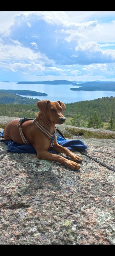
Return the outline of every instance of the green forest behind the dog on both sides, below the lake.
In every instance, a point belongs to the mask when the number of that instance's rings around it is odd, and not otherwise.
[[[9,94],[8,94],[9,97]],[[12,94],[13,97],[13,94]],[[14,94],[14,97],[17,97]],[[23,101],[25,99],[25,102]],[[22,102],[0,104],[0,116],[14,116],[14,117],[28,117],[35,118],[38,110],[36,102],[38,99],[22,98]],[[34,103],[33,103],[34,101]],[[27,103],[26,103],[27,102]],[[93,99],[90,101],[80,101],[75,103],[66,104],[64,112],[65,117],[73,117],[76,113],[83,116],[85,121],[88,121],[89,117],[96,111],[97,115],[103,122],[109,122],[112,111],[115,109],[115,97],[103,97]],[[113,113],[115,120],[115,112]]]

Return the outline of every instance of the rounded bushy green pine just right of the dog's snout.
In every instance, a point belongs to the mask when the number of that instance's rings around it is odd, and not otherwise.
[[[76,126],[76,127],[86,127],[84,117],[80,113],[76,113],[73,116],[73,118],[71,120],[71,123],[72,123],[73,126]]]

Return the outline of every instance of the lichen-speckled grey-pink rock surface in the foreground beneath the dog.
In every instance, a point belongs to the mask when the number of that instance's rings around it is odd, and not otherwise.
[[[83,141],[115,169],[115,139]],[[82,159],[75,172],[34,154],[0,155],[0,244],[115,244],[115,173]]]

